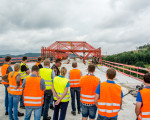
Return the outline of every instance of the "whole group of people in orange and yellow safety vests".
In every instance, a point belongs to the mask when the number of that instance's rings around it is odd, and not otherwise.
[[[5,115],[9,114],[10,120],[18,120],[19,115],[24,115],[18,112],[19,101],[20,108],[25,109],[25,120],[30,120],[32,111],[35,120],[40,120],[41,116],[43,120],[50,120],[49,108],[54,109],[53,120],[65,120],[70,95],[73,116],[78,113],[82,114],[82,120],[95,120],[98,111],[97,120],[117,120],[123,92],[114,82],[116,71],[113,68],[106,71],[107,80],[100,82],[94,75],[94,64],[89,64],[88,74],[83,75],[77,62],[73,62],[67,79],[67,68],[61,67],[61,59],[57,59],[51,68],[49,59],[44,60],[44,67],[41,62],[39,57],[30,74],[27,57],[22,58],[21,64],[16,63],[14,70],[10,66],[11,57],[5,58],[1,72],[5,86]],[[150,73],[144,76],[144,83],[145,88],[138,92],[136,100],[138,120],[150,120]]]

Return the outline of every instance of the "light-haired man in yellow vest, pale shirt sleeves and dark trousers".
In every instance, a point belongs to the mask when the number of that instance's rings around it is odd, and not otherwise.
[[[51,117],[48,117],[48,110],[50,105],[50,100],[52,96],[52,80],[55,77],[55,72],[50,69],[50,60],[44,60],[44,68],[41,68],[39,75],[45,81],[46,90],[44,92],[44,110],[43,110],[43,120],[50,120]]]

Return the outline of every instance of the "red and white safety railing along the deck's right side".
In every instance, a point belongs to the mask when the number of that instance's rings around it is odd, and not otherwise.
[[[143,80],[143,76],[148,71],[147,68],[137,67],[133,65],[126,65],[106,60],[102,60],[102,65],[106,67],[112,67],[116,69],[118,72],[129,77],[134,77],[138,80]]]

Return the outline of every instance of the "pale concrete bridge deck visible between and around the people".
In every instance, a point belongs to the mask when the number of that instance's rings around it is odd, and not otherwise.
[[[82,61],[77,60],[78,61],[78,68],[82,70],[83,75],[87,74],[87,65],[84,65],[82,63]],[[65,63],[65,61],[63,61],[63,63]],[[71,60],[72,63],[72,60]],[[70,64],[62,64],[62,66],[66,67],[67,70],[69,71],[71,68],[71,63]],[[32,65],[34,65],[35,63],[28,63],[29,68],[32,67]],[[51,64],[52,65],[52,64]],[[13,66],[12,66],[13,67]],[[98,69],[99,68],[99,69]],[[101,82],[106,81],[106,70],[107,68],[104,66],[99,66],[96,71],[95,71],[95,75],[97,77],[100,78]],[[66,77],[68,78],[68,74],[66,75]],[[117,77],[115,79],[116,83],[120,84],[120,83],[126,83],[126,85],[128,86],[132,86],[135,87],[136,84],[141,84],[140,81],[135,80],[134,78],[130,78],[127,77],[121,73],[117,72]],[[128,84],[127,84],[128,83]],[[128,92],[128,89],[126,87],[124,87],[124,84],[120,84],[122,86],[122,90],[123,93],[126,94]],[[0,84],[0,119],[1,120],[8,120],[8,116],[5,116],[5,107],[4,107],[4,86]],[[71,103],[71,102],[70,102]],[[71,104],[69,103],[68,106],[68,110],[67,110],[67,115],[66,115],[66,120],[81,120],[81,114],[80,115],[76,115],[76,116],[72,116],[71,115]],[[123,106],[121,111],[119,112],[118,115],[118,120],[135,120],[136,119],[136,115],[135,115],[135,104],[136,103],[136,98],[133,97],[132,95],[128,95],[126,97],[124,97],[123,99]],[[24,112],[25,110],[20,109],[19,111]],[[53,115],[53,111],[50,109],[49,110],[49,114],[52,116]],[[31,120],[33,120],[34,115],[32,115]],[[20,117],[20,120],[24,120],[24,117]]]

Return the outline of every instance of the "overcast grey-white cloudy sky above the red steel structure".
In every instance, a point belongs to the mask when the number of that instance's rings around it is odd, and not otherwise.
[[[86,41],[116,54],[150,43],[150,0],[0,0],[0,54]]]

